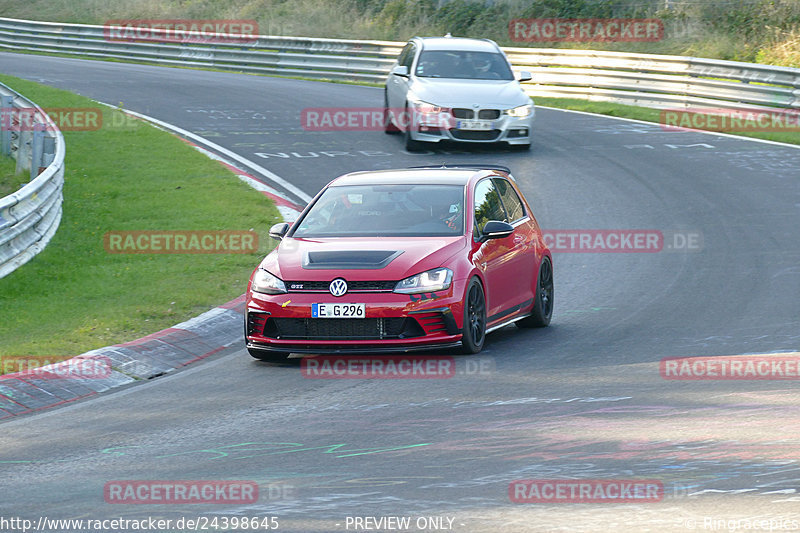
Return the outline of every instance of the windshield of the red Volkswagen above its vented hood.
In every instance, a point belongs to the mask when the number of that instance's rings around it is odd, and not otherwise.
[[[460,185],[329,187],[292,237],[434,237],[464,232]]]

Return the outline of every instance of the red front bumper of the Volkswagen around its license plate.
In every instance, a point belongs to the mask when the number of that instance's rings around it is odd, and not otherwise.
[[[293,353],[389,353],[458,346],[463,288],[424,294],[328,292],[248,295],[250,350]],[[461,290],[459,290],[461,289]],[[314,303],[363,303],[365,318],[312,318]]]

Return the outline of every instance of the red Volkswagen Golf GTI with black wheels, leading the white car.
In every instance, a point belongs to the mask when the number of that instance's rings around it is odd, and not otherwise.
[[[483,348],[553,312],[550,251],[508,169],[354,172],[330,182],[247,286],[257,359],[294,353]]]

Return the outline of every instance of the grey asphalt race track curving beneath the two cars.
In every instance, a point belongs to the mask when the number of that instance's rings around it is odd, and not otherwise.
[[[799,349],[800,149],[538,109],[530,152],[410,154],[380,131],[301,127],[304,108],[381,106],[378,88],[8,53],[0,71],[122,102],[310,196],[353,170],[505,164],[545,229],[665,236],[657,253],[555,254],[551,327],[492,333],[449,379],[307,379],[236,348],[4,422],[0,515],[274,516],[279,530],[319,532],[376,531],[353,517],[388,516],[441,519],[409,531],[721,531],[710,520],[739,519],[800,529],[797,381],[659,372],[665,357]],[[700,244],[681,247],[687,235]],[[214,479],[255,481],[260,497],[103,496],[113,480]],[[664,495],[514,503],[518,479],[659,480]]]

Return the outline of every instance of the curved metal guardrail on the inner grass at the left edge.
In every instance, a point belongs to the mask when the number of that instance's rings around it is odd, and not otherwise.
[[[30,182],[0,198],[0,278],[41,252],[61,222],[64,137],[39,106],[0,84],[0,152]]]

